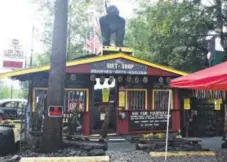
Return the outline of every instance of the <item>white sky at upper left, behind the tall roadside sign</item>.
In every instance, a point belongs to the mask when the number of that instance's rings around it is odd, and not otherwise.
[[[32,26],[39,24],[37,21],[37,7],[30,0],[6,0],[0,1],[0,56],[11,43],[11,39],[18,39],[25,54],[30,54]],[[34,49],[38,51],[41,47],[39,43],[41,33],[36,32],[36,43]],[[1,59],[2,60],[2,59]],[[0,72],[7,71],[2,68],[0,62]]]

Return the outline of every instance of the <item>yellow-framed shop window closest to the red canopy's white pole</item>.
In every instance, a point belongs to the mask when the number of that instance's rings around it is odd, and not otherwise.
[[[155,110],[168,110],[169,95],[171,100],[171,109],[173,107],[172,90],[169,89],[154,89],[153,90],[153,104],[152,107]]]

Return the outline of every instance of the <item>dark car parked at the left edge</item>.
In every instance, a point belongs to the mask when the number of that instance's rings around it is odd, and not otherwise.
[[[15,120],[25,114],[25,99],[5,99],[0,100],[0,120],[11,119]]]

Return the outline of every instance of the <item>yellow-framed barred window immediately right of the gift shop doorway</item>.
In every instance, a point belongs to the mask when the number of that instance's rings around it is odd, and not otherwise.
[[[147,109],[147,90],[128,89],[127,92],[127,110],[146,110]]]

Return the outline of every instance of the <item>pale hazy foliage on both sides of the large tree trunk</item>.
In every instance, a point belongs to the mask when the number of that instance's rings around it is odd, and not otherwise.
[[[54,0],[33,0],[33,2],[39,5],[39,12],[42,13],[43,21],[41,23],[44,26],[42,42],[45,45],[45,52],[36,57],[35,65],[45,65],[50,62]],[[84,44],[89,35],[89,28],[92,26],[92,12],[103,13],[103,3],[103,1],[69,1],[67,60],[85,54]]]

